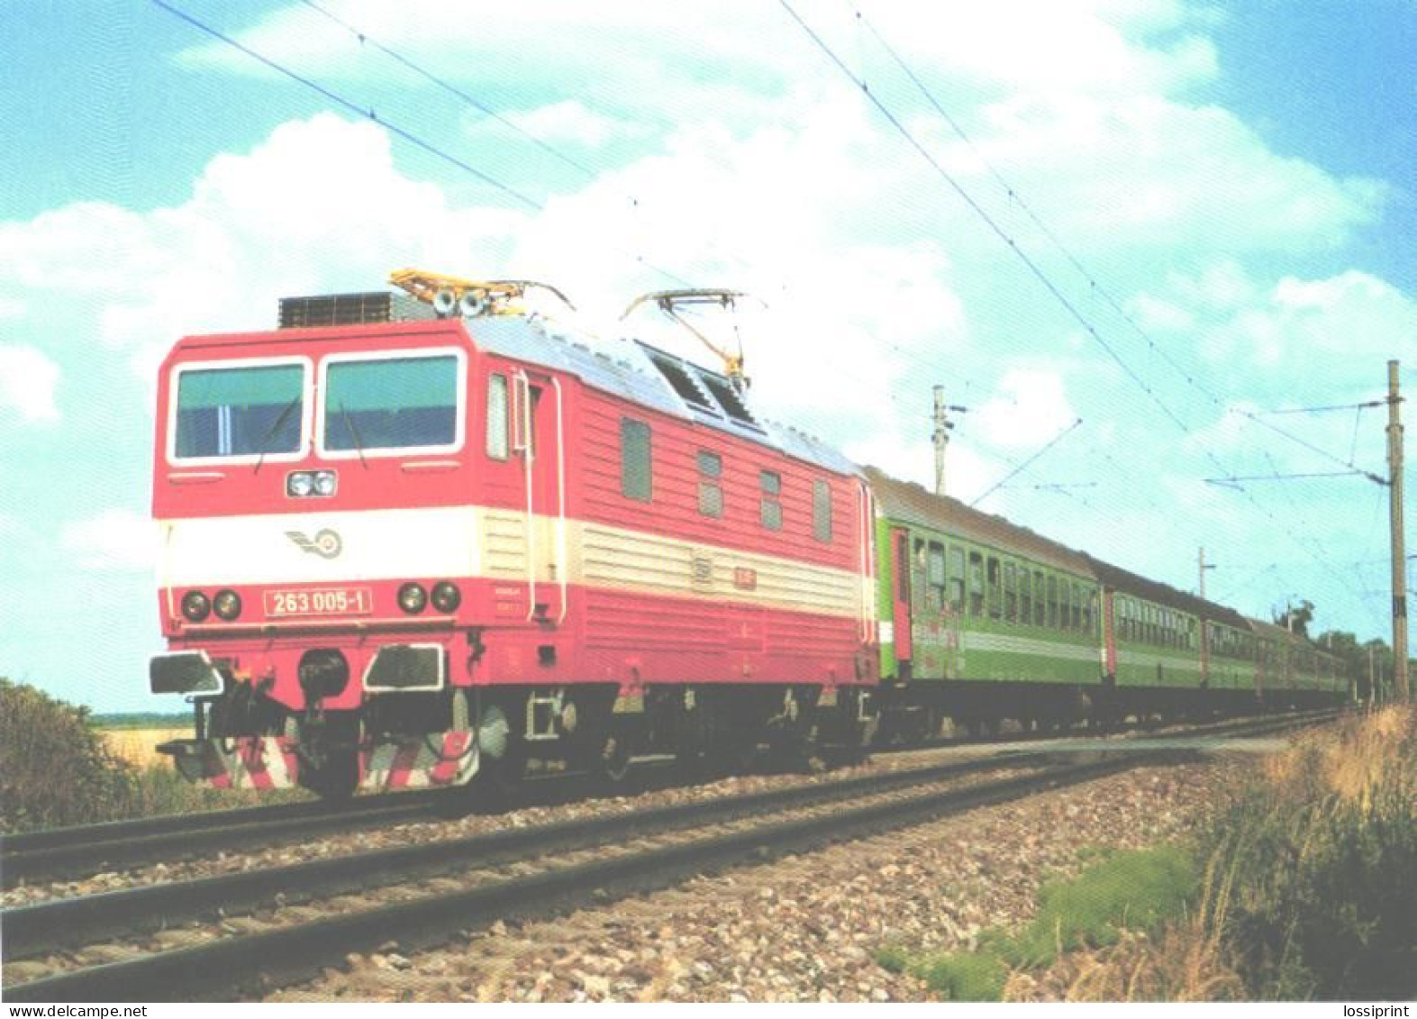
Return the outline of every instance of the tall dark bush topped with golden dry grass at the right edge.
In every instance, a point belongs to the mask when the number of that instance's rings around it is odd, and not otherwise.
[[[1417,996],[1417,737],[1387,709],[1281,755],[1221,828],[1226,934],[1270,999]]]

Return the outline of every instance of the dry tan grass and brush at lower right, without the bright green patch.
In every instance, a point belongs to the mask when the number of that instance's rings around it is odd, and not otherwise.
[[[1043,974],[1015,972],[1005,996],[1401,998],[1417,986],[1394,971],[1404,942],[1408,959],[1414,951],[1414,795],[1411,706],[1308,736],[1265,760],[1247,805],[1212,836],[1195,916],[1066,954]]]

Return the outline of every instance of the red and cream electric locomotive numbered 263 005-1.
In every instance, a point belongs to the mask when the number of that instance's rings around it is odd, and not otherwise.
[[[194,700],[181,771],[333,795],[859,743],[856,469],[724,376],[496,310],[167,357],[150,679]]]

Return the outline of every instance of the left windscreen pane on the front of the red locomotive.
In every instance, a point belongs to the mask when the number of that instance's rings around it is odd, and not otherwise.
[[[179,368],[176,402],[177,458],[299,452],[305,367]]]

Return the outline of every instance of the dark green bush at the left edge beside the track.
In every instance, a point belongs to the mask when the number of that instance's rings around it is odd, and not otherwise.
[[[132,778],[89,726],[86,707],[0,679],[0,831],[106,818]]]

